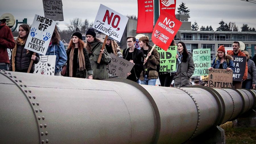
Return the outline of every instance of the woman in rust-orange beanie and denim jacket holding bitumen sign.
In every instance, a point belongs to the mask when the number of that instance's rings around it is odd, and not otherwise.
[[[208,68],[209,71],[211,69],[226,69],[228,71],[233,71],[233,73],[235,72],[233,57],[225,54],[224,46],[218,48],[217,57],[213,59],[211,67]]]

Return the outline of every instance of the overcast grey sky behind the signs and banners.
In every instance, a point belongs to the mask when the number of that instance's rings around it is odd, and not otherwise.
[[[256,4],[241,0],[176,0],[177,7],[185,3],[190,10],[191,24],[197,21],[199,27],[212,26],[214,31],[219,22],[236,22],[241,30],[243,23],[256,28]],[[66,23],[73,18],[88,19],[94,22],[100,4],[106,5],[123,15],[138,13],[137,0],[62,0],[64,21],[59,22],[60,29],[66,29]],[[42,0],[1,0],[0,15],[11,13],[18,21],[28,18],[32,24],[35,14],[44,16]],[[177,13],[177,12],[176,12]]]

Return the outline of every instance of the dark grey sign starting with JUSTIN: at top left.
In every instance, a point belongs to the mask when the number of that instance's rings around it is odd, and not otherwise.
[[[63,9],[61,0],[43,0],[44,5],[44,17],[63,21]]]

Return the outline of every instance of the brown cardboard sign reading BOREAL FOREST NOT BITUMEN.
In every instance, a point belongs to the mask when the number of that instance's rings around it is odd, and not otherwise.
[[[208,85],[210,88],[232,88],[232,75],[233,71],[227,71],[226,69],[212,69],[209,71]]]

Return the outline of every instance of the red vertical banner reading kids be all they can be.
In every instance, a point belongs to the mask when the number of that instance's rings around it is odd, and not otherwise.
[[[153,0],[138,0],[137,33],[152,33],[154,25]]]

